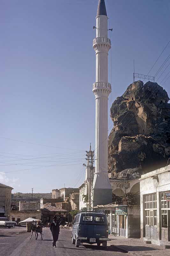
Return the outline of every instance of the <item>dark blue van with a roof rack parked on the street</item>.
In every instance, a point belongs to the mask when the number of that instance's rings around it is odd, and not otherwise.
[[[79,247],[82,243],[107,247],[108,224],[104,213],[81,212],[76,215],[72,227],[72,244]]]

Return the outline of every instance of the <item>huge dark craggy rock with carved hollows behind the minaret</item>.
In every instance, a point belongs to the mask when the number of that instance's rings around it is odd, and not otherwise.
[[[170,104],[157,83],[130,84],[110,109],[114,128],[108,139],[112,177],[127,168],[150,172],[170,157]]]

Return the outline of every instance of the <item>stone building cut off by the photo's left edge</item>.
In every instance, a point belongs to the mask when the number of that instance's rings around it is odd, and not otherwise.
[[[0,183],[0,216],[10,217],[11,191],[13,188]]]

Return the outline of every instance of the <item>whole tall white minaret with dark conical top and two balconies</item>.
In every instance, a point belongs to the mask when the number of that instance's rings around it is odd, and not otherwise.
[[[112,187],[107,172],[108,96],[111,92],[111,84],[108,83],[108,51],[111,48],[111,41],[107,37],[107,19],[105,1],[99,0],[96,38],[93,40],[96,52],[96,82],[92,86],[96,100],[94,206],[112,202]]]

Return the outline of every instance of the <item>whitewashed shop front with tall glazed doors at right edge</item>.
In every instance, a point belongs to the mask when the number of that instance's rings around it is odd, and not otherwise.
[[[170,165],[141,176],[141,238],[170,244]]]

